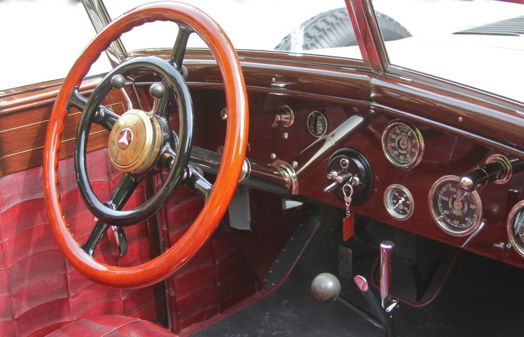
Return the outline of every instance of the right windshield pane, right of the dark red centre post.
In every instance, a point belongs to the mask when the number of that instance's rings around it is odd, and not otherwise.
[[[392,65],[524,102],[523,5],[488,0],[372,4]],[[387,41],[388,21],[381,15],[398,21],[410,37]]]

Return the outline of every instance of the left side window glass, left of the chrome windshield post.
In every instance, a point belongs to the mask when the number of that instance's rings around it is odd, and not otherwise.
[[[4,89],[65,77],[95,36],[80,2],[0,1],[0,95]],[[105,55],[88,75],[111,70]]]

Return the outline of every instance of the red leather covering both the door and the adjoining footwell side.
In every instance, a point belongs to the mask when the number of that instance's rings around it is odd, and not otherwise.
[[[101,200],[119,181],[107,151],[88,153],[88,172]],[[58,249],[48,229],[41,167],[0,177],[0,336],[43,336],[73,321],[123,314],[157,321],[152,287],[121,290],[82,276]],[[60,194],[65,217],[80,243],[94,224],[74,177],[73,159],[60,161]],[[126,208],[143,203],[141,188]],[[203,205],[200,196],[180,187],[160,211],[163,237],[172,245],[189,228]],[[128,251],[119,257],[112,235],[106,235],[95,257],[111,265],[134,265],[150,259],[145,223],[124,228]],[[227,310],[257,290],[253,269],[226,226],[167,279],[173,331],[179,332]]]

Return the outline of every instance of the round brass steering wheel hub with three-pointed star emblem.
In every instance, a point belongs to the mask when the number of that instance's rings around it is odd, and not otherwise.
[[[162,144],[158,119],[145,111],[127,111],[115,123],[108,152],[113,166],[128,173],[143,173],[154,164]]]

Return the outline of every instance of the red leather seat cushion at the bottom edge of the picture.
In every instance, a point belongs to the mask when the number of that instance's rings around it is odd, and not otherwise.
[[[84,318],[50,333],[52,337],[78,336],[133,336],[173,337],[172,332],[148,321],[122,315],[105,315]]]

